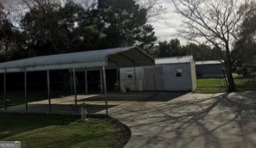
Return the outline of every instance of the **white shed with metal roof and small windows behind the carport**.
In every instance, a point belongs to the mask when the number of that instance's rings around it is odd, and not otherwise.
[[[194,91],[193,56],[155,59],[154,66],[120,69],[122,91]]]

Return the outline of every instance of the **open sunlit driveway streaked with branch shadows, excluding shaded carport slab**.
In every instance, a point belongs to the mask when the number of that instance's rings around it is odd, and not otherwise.
[[[255,97],[255,92],[188,94],[168,102],[124,105],[112,113],[131,128],[125,147],[253,148]]]

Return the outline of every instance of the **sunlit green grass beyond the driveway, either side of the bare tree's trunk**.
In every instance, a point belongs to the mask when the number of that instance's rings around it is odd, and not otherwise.
[[[234,83],[237,91],[256,90],[256,78],[240,77],[234,74]],[[198,78],[196,93],[219,93],[226,91],[226,84],[223,78]]]

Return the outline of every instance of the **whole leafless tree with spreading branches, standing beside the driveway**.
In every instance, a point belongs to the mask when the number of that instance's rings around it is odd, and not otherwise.
[[[187,40],[206,42],[218,50],[225,50],[228,90],[234,91],[234,77],[230,50],[237,40],[237,29],[244,13],[240,0],[172,0],[176,12],[182,15],[182,36]]]

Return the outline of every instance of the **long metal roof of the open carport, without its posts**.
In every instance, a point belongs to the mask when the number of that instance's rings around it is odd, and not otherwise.
[[[115,58],[112,57],[112,55],[117,56]],[[137,57],[139,57],[139,59]],[[136,46],[128,46],[97,51],[71,52],[4,62],[0,63],[0,72],[93,68],[108,66],[111,62],[112,65],[119,67],[129,65],[154,65],[154,60],[145,52],[141,51]]]

